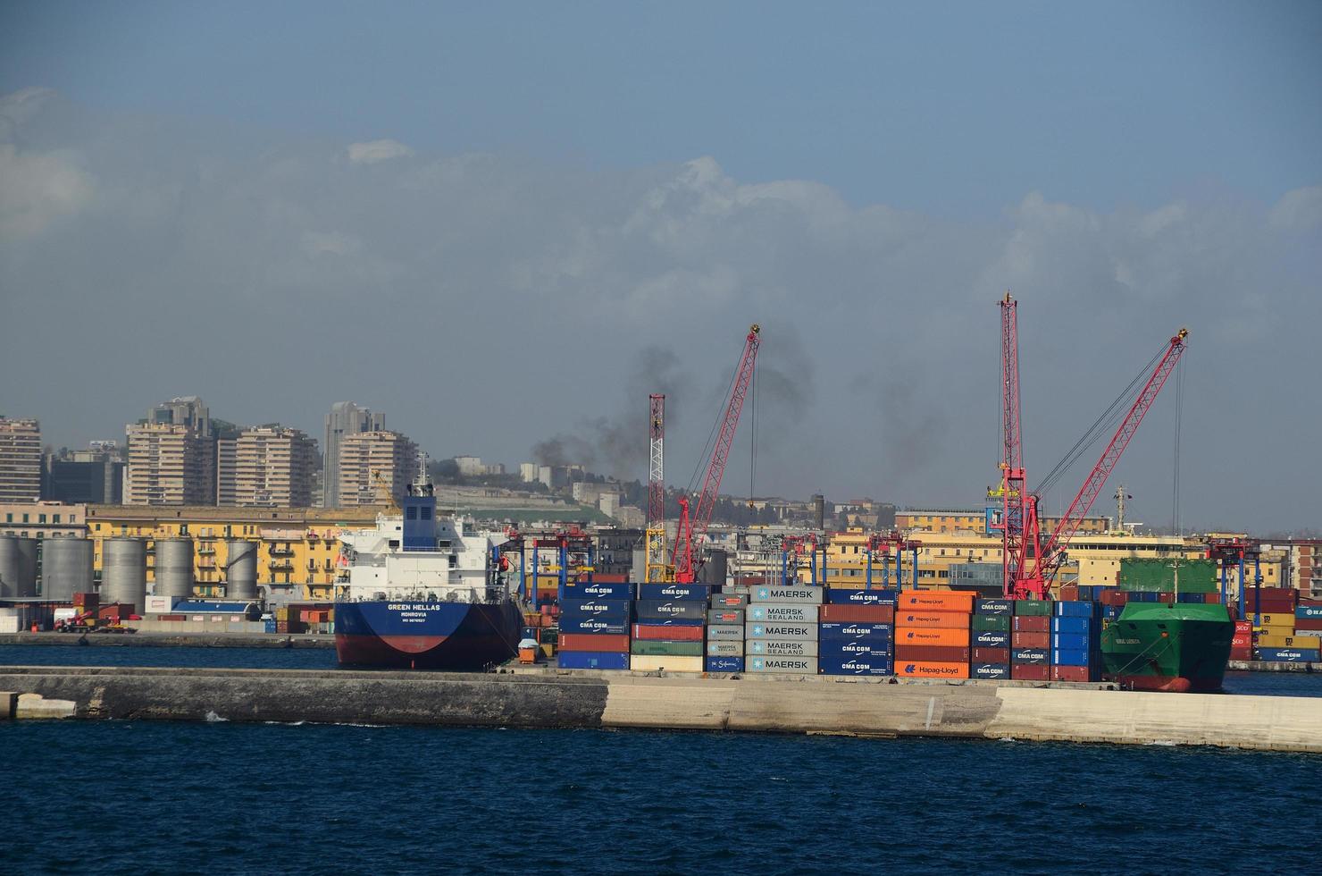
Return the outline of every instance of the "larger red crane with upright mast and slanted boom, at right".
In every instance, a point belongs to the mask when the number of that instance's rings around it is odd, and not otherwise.
[[[1001,300],[1001,402],[1002,402],[1002,449],[1001,486],[990,491],[993,498],[1002,500],[1001,520],[993,528],[1002,531],[1002,573],[1005,594],[1014,598],[1044,598],[1055,581],[1066,557],[1066,545],[1079,529],[1079,524],[1092,509],[1107,478],[1120,462],[1129,439],[1138,430],[1144,414],[1157,400],[1161,388],[1166,385],[1175,364],[1185,352],[1185,339],[1188,331],[1181,328],[1169,341],[1159,361],[1151,371],[1144,388],[1134,398],[1129,413],[1120,422],[1110,443],[1092,467],[1083,487],[1079,488],[1069,509],[1056,523],[1055,529],[1043,543],[1038,520],[1038,494],[1026,488],[1023,468],[1022,435],[1019,431],[1019,335],[1017,302],[1006,292]],[[1155,359],[1155,357],[1154,357]],[[1141,374],[1140,374],[1141,376]],[[1137,378],[1134,381],[1137,384]],[[1134,384],[1130,384],[1133,386]],[[1120,400],[1117,400],[1118,402]],[[1112,405],[1114,408],[1114,404]],[[1100,419],[1099,419],[1100,422]],[[1095,423],[1096,425],[1096,423]],[[1058,467],[1059,468],[1059,467]]]

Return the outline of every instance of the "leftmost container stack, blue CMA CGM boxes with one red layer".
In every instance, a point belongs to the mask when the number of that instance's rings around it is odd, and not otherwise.
[[[558,664],[563,670],[629,668],[632,584],[572,581],[561,605]]]

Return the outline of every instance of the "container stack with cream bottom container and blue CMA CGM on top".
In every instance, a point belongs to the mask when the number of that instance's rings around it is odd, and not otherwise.
[[[710,594],[706,584],[640,584],[629,668],[702,672]]]

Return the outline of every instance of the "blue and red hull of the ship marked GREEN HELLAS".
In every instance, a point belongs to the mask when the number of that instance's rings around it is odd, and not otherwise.
[[[504,602],[336,602],[341,666],[481,671],[518,651],[522,615]]]

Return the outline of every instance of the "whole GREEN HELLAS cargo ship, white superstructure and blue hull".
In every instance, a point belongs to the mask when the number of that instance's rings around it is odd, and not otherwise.
[[[411,486],[398,516],[340,541],[341,666],[481,671],[517,654],[522,607],[500,557],[504,536],[439,520],[430,484]]]

